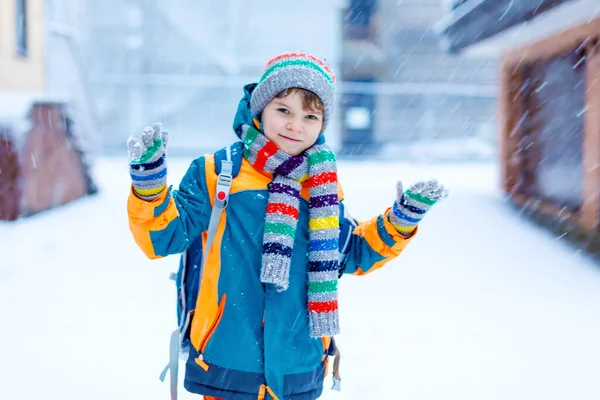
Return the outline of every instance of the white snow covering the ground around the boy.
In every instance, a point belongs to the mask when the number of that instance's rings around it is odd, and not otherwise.
[[[169,274],[127,226],[125,158],[100,193],[0,223],[0,399],[169,398]],[[190,159],[170,159],[179,181]],[[395,181],[451,190],[397,260],[340,284],[342,392],[322,399],[597,399],[600,269],[503,200],[494,165],[340,162],[346,204],[370,218]],[[181,392],[182,399],[198,399]]]

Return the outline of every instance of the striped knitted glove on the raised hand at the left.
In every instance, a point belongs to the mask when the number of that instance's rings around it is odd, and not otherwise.
[[[165,150],[168,141],[169,133],[160,123],[146,127],[142,140],[133,136],[127,140],[133,191],[142,200],[154,200],[167,186]]]

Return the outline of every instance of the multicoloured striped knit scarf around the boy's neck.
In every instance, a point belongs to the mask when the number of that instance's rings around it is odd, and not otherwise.
[[[244,125],[244,157],[259,171],[274,174],[269,185],[260,279],[278,291],[289,285],[292,249],[302,183],[308,180],[310,220],[308,245],[308,314],[313,337],[339,333],[338,257],[339,204],[333,152],[315,144],[300,156],[279,150],[254,127]]]

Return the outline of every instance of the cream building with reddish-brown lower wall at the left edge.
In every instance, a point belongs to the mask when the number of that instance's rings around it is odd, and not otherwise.
[[[0,0],[0,220],[96,190],[76,134],[81,119],[48,90],[48,60],[60,55],[47,46],[47,5]]]

